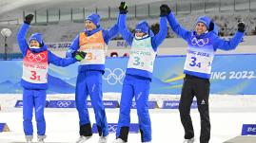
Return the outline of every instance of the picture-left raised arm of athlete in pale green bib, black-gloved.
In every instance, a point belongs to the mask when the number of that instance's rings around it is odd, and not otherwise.
[[[119,20],[118,20],[118,29],[121,33],[122,37],[127,41],[128,45],[132,44],[132,40],[134,38],[133,34],[128,30],[126,26],[127,23],[127,13],[128,13],[128,6],[125,2],[121,2],[119,7]]]

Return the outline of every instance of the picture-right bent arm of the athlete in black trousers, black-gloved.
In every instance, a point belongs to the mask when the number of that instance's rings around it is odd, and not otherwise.
[[[243,22],[240,22],[238,24],[238,31],[235,33],[233,38],[231,38],[229,41],[223,40],[216,36],[216,38],[213,40],[213,46],[215,49],[222,49],[222,50],[232,50],[239,45],[239,43],[242,42],[242,39],[245,35],[245,28],[246,24]]]

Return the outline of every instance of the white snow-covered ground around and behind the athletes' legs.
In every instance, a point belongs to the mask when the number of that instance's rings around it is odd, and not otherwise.
[[[222,143],[238,136],[242,132],[243,124],[256,123],[256,96],[231,96],[211,95],[210,96],[210,120],[211,139],[210,143]],[[150,95],[150,100],[156,99],[161,107],[165,99],[178,99],[177,95]],[[10,132],[0,133],[1,143],[24,142],[22,127],[22,109],[14,108],[17,99],[21,95],[1,95],[0,122],[6,122]],[[74,99],[74,95],[49,95],[48,99]],[[120,94],[107,93],[105,99],[120,99]],[[107,109],[108,123],[116,123],[119,109]],[[152,122],[152,143],[183,141],[184,131],[180,122],[177,109],[152,109],[149,111]],[[95,122],[93,110],[89,109],[91,123]],[[78,115],[75,109],[46,109],[47,139],[46,142],[75,142],[78,138]],[[191,110],[196,143],[199,143],[200,116],[196,109]],[[137,123],[136,110],[131,110],[131,122]],[[35,125],[35,122],[33,121]],[[34,128],[34,133],[36,129]],[[34,134],[36,135],[36,134]],[[34,136],[34,141],[36,141]],[[109,134],[108,142],[115,138]],[[94,134],[88,143],[96,143],[98,134]],[[140,134],[129,134],[129,143],[140,143]]]

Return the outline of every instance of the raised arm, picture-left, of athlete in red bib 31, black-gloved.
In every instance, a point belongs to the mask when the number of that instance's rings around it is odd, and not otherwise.
[[[28,33],[28,30],[30,28],[30,23],[32,20],[33,20],[33,15],[32,14],[27,15],[25,17],[24,24],[20,27],[19,32],[17,34],[18,45],[20,47],[23,57],[26,56],[27,50],[29,48],[29,45],[26,41],[26,35]]]

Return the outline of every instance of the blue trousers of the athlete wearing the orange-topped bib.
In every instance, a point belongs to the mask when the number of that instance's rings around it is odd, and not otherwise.
[[[79,125],[86,125],[89,121],[87,98],[90,98],[94,110],[96,124],[101,128],[103,136],[108,135],[108,123],[103,105],[102,72],[86,71],[77,76],[75,102],[79,115]]]

